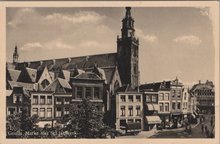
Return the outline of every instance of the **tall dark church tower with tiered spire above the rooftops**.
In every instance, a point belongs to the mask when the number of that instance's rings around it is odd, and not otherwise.
[[[131,7],[126,7],[126,14],[122,20],[121,37],[117,38],[117,55],[122,84],[132,88],[137,87],[139,82],[138,46],[139,40],[135,37]]]

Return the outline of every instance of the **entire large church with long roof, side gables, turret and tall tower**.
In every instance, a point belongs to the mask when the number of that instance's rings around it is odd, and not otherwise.
[[[30,91],[45,91],[53,81],[61,78],[73,88],[71,80],[82,73],[91,72],[104,80],[104,109],[109,111],[111,96],[119,87],[138,86],[138,49],[139,40],[135,37],[131,8],[126,7],[121,36],[117,36],[116,53],[19,62],[19,49],[15,46],[13,63],[6,64],[6,87],[7,90],[19,86]]]

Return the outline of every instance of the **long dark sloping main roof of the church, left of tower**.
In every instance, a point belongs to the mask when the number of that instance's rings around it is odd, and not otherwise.
[[[25,67],[27,62],[18,63],[16,69],[21,70]],[[44,69],[47,66],[49,71],[61,68],[64,70],[71,70],[74,67],[79,69],[92,68],[95,64],[99,67],[111,67],[117,63],[117,53],[98,54],[90,56],[80,56],[72,58],[60,58],[42,61],[31,61],[29,68],[32,69]]]

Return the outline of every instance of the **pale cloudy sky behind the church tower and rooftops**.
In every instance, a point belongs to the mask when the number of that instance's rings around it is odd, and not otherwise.
[[[132,8],[139,37],[141,83],[214,80],[208,8]],[[7,8],[7,61],[116,52],[125,8]]]

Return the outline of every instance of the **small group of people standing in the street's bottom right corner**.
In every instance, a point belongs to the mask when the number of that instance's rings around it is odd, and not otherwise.
[[[202,115],[200,116],[200,123],[201,123],[201,129],[202,129],[202,134],[206,135],[207,138],[214,138],[214,117],[211,116],[210,119],[210,127],[208,127],[208,123],[204,124],[205,122],[205,117]]]

